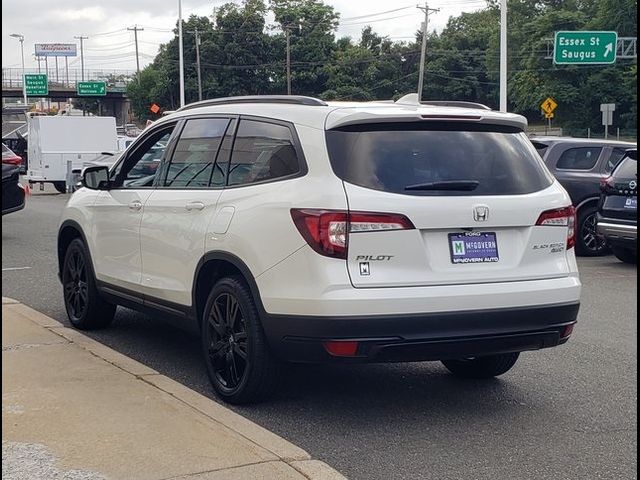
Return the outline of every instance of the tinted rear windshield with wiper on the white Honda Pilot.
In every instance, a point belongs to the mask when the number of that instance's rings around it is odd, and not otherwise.
[[[553,177],[519,129],[462,122],[363,124],[327,131],[346,182],[406,195],[521,195]],[[409,188],[408,188],[409,187]]]

